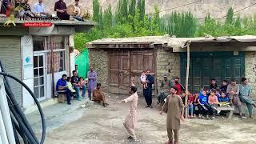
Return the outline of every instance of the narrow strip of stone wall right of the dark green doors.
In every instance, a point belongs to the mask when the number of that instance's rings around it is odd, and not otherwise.
[[[246,78],[251,86],[253,91],[254,100],[256,100],[256,72],[254,72],[253,68],[256,65],[256,52],[246,52],[245,56],[245,64],[246,64]],[[256,68],[255,68],[256,70]]]

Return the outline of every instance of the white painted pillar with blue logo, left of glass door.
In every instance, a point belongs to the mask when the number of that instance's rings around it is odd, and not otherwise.
[[[33,70],[33,39],[31,36],[21,38],[22,50],[22,82],[34,91],[34,70]],[[26,59],[26,58],[29,58]],[[22,87],[23,106],[28,107],[34,105],[34,99],[30,93]]]

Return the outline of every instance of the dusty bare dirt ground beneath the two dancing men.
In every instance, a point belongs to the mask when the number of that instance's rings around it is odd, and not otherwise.
[[[84,109],[81,119],[53,130],[46,136],[46,144],[101,144],[101,143],[165,143],[166,114],[159,114],[158,106],[145,108],[143,98],[138,102],[137,142],[129,142],[122,122],[128,113],[128,104],[119,104],[121,98],[109,99],[109,106],[99,105]],[[156,102],[156,100],[154,100]],[[179,143],[256,143],[256,120],[218,117],[215,120],[186,119],[182,122]]]

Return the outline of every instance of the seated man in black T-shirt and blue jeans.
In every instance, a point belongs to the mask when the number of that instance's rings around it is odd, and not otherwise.
[[[76,91],[76,97],[78,98],[78,101],[81,101],[80,98],[80,88],[82,89],[82,98],[86,98],[86,86],[82,85],[80,86],[79,84],[79,78],[78,78],[78,74],[75,70],[73,70],[73,76],[71,78],[71,83],[74,86],[74,90]]]

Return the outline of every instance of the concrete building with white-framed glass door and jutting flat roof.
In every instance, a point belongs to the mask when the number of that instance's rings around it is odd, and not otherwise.
[[[1,25],[6,21],[0,18]],[[74,70],[72,34],[86,32],[94,26],[93,22],[48,22],[51,26],[28,27],[16,19],[16,26],[0,26],[0,59],[6,71],[22,79],[42,103],[55,102],[54,86],[58,78]],[[34,106],[30,94],[17,82],[10,82],[20,106],[30,111]]]

